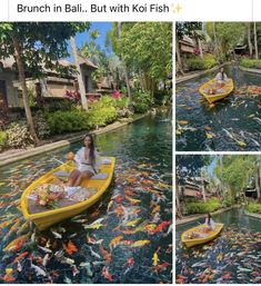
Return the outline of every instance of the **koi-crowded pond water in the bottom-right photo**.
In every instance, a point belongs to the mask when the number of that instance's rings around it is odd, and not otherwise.
[[[181,234],[204,219],[177,226],[177,283],[260,284],[261,225],[243,209],[213,216],[224,224],[220,236],[209,244],[185,248]]]

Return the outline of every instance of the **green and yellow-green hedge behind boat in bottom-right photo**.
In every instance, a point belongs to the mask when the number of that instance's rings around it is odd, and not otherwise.
[[[221,207],[220,201],[217,198],[203,201],[191,201],[185,205],[189,215],[192,214],[208,214],[212,213]]]

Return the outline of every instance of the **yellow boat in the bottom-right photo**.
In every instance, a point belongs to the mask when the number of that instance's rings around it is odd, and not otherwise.
[[[215,223],[214,230],[210,230],[208,233],[203,231],[203,229],[205,229],[205,225],[192,227],[181,235],[181,241],[187,247],[205,244],[210,240],[213,240],[220,234],[223,226],[223,224]]]

